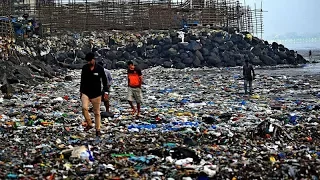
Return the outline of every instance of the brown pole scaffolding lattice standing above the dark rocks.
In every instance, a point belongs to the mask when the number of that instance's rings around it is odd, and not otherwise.
[[[16,0],[17,1],[17,0]],[[0,0],[0,16],[28,13],[47,31],[145,30],[189,26],[263,33],[263,12],[239,0]],[[14,3],[15,2],[15,3]]]

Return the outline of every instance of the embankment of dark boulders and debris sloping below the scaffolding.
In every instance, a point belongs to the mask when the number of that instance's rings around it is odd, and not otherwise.
[[[81,69],[85,54],[95,51],[98,62],[108,69],[126,68],[134,61],[141,69],[236,67],[249,60],[255,66],[304,64],[307,61],[281,44],[268,43],[250,34],[229,34],[222,30],[181,32],[146,31],[104,33],[61,33],[44,38],[17,40],[11,55],[0,62],[1,85],[36,84],[67,69]],[[183,40],[182,40],[183,39]],[[183,42],[181,42],[183,41]],[[10,93],[3,88],[4,93]]]

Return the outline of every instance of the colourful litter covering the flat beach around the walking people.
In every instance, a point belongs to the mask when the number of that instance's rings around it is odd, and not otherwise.
[[[79,71],[15,84],[0,98],[0,178],[319,179],[319,77],[285,71],[257,70],[246,96],[238,68],[146,69],[136,119],[112,70],[100,138],[82,126]]]

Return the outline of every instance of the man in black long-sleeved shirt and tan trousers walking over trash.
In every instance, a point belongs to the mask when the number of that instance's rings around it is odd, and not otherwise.
[[[82,113],[87,122],[85,131],[93,128],[89,114],[89,102],[93,106],[95,116],[96,135],[100,136],[100,104],[101,104],[101,79],[103,84],[104,99],[108,99],[108,80],[104,73],[103,67],[95,63],[94,54],[88,53],[85,57],[88,64],[82,67],[80,82],[80,97],[82,102]]]

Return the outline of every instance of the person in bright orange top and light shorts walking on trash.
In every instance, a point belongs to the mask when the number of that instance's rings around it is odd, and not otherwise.
[[[142,102],[142,73],[141,70],[133,64],[132,61],[128,62],[128,101],[132,109],[132,115],[136,113],[136,109],[133,106],[133,101],[137,103],[137,117],[140,116],[140,105]]]

